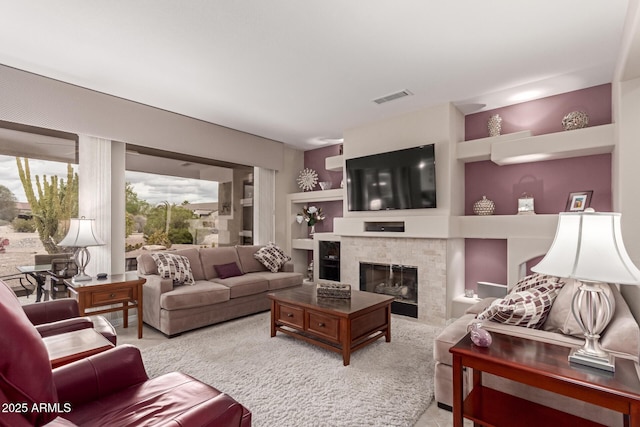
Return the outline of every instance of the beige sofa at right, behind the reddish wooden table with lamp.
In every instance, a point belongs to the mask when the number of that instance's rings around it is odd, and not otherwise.
[[[478,320],[477,316],[482,313],[496,298],[485,298],[469,307],[466,313],[451,322],[435,339],[434,359],[435,359],[435,400],[438,406],[450,408],[453,404],[453,369],[452,355],[449,349],[456,344],[467,333],[467,327],[472,322],[480,321],[482,327],[490,333],[508,334],[523,337],[531,340],[542,341],[567,347],[581,347],[584,339],[579,338],[579,332],[575,326],[570,327],[572,322],[571,298],[578,286],[575,281],[567,281],[551,307],[551,312],[539,329],[532,329],[523,326],[514,326],[499,323],[493,320]],[[601,334],[600,344],[615,357],[633,360],[638,370],[638,358],[640,355],[640,327],[631,314],[629,306],[622,297],[616,286],[609,286],[611,295],[615,301],[615,311],[613,318],[606,329]],[[565,332],[557,332],[557,327],[551,325],[563,324]],[[572,330],[573,328],[573,330]],[[546,329],[546,330],[545,330]],[[568,362],[567,362],[568,363]],[[466,369],[464,376],[464,395],[469,392],[471,384],[471,370]],[[605,374],[606,375],[606,374]],[[506,380],[489,374],[483,374],[483,384],[496,390],[509,393],[523,399],[539,403],[564,412],[570,412],[583,418],[590,419],[608,426],[622,426],[623,418],[618,412],[593,406],[591,404],[560,396],[544,390],[532,388],[521,383]],[[528,416],[531,414],[523,414]]]

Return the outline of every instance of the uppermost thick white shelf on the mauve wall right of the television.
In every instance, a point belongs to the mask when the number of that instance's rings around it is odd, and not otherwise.
[[[593,126],[565,132],[531,136],[530,131],[458,143],[463,162],[491,160],[498,165],[529,163],[611,153],[614,125]]]

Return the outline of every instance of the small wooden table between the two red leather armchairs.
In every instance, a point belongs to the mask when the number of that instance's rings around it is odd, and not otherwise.
[[[49,352],[52,368],[84,359],[114,347],[111,341],[93,328],[51,335],[43,338],[42,341]]]

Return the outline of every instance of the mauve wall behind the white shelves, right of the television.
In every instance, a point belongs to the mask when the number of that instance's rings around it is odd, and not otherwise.
[[[572,111],[586,112],[589,126],[609,124],[611,102],[611,85],[604,84],[470,114],[465,117],[465,140],[488,137],[487,122],[493,114],[502,117],[503,135],[522,130],[533,135],[565,132],[562,118]],[[505,166],[467,163],[465,215],[473,215],[473,203],[483,195],[495,202],[495,215],[514,215],[523,192],[534,196],[536,213],[557,214],[565,210],[570,192],[586,190],[593,190],[591,207],[611,211],[611,173],[610,154]],[[527,274],[539,259],[527,263]],[[507,284],[506,240],[465,239],[465,287],[477,289],[478,281]]]

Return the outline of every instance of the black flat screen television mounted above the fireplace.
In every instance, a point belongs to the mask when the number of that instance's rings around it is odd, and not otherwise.
[[[436,207],[435,146],[347,159],[349,211]]]

